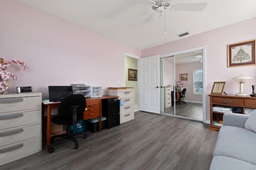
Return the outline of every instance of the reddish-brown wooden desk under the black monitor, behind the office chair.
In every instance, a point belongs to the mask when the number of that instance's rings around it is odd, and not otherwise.
[[[104,99],[110,98],[118,98],[118,96],[102,96],[100,98],[86,98],[86,108],[87,110],[84,111],[84,120],[90,119],[93,117],[100,117],[100,131],[101,131],[101,103]],[[99,107],[95,106],[98,105]],[[60,106],[60,102],[46,102],[42,104],[42,116],[44,117],[44,107],[47,107],[47,121],[46,121],[46,143],[47,143],[47,151],[50,149],[50,123],[51,123],[51,109],[58,108]],[[90,107],[95,107],[96,109],[93,110],[95,113],[91,113]],[[98,110],[97,110],[98,109]],[[43,119],[44,120],[44,119]],[[44,127],[43,127],[44,128]]]

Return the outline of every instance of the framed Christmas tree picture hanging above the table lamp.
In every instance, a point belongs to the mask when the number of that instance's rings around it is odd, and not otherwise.
[[[256,65],[255,40],[229,44],[228,67]]]

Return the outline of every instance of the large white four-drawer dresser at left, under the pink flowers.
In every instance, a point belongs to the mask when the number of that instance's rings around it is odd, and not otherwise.
[[[42,93],[0,95],[0,165],[42,150]]]

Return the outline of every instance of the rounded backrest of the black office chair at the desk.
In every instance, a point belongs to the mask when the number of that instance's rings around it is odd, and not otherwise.
[[[73,110],[71,107],[73,106],[79,106],[76,110],[76,117],[77,120],[81,120],[86,108],[86,100],[82,94],[72,94],[63,98],[60,102],[58,114],[61,116],[72,117]]]

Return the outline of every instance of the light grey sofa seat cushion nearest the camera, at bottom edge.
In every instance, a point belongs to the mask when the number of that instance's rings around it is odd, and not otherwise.
[[[210,170],[255,170],[256,166],[242,160],[226,156],[214,156]]]

